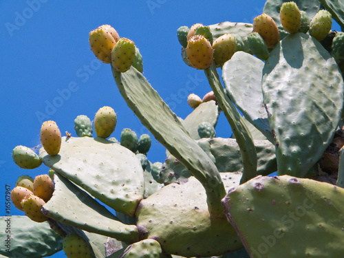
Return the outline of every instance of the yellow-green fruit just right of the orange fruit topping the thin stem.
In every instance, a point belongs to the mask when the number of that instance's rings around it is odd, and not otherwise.
[[[237,39],[232,34],[223,34],[214,41],[213,50],[215,65],[222,66],[237,50]]]

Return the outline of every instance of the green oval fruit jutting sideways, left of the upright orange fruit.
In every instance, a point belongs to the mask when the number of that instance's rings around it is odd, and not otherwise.
[[[34,153],[32,149],[21,145],[13,149],[12,158],[14,163],[22,169],[36,169],[42,164],[39,155]]]

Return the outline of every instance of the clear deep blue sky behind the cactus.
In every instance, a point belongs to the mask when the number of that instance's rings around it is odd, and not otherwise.
[[[1,148],[0,171],[3,200],[6,184],[14,188],[20,175],[47,173],[20,169],[12,161],[17,145],[30,148],[40,144],[44,120],[57,122],[61,132],[76,136],[74,118],[83,114],[94,119],[100,107],[113,107],[118,124],[113,136],[124,128],[138,136],[142,127],[122,100],[109,65],[100,63],[89,50],[89,31],[112,25],[121,37],[133,40],[144,61],[144,75],[175,113],[185,118],[192,109],[187,95],[204,96],[211,89],[202,71],[184,64],[176,36],[182,25],[211,25],[222,21],[252,23],[261,14],[264,0],[247,1],[0,1],[1,56]],[[188,92],[185,85],[197,78]],[[76,85],[70,89],[70,85]],[[95,135],[95,134],[94,134]],[[231,135],[221,116],[217,136]],[[164,162],[164,148],[153,139],[148,154],[151,162]],[[3,201],[4,202],[4,201]],[[12,215],[23,215],[12,207]],[[0,205],[0,215],[5,215]],[[1,248],[1,247],[0,247]],[[60,252],[53,257],[65,257]]]

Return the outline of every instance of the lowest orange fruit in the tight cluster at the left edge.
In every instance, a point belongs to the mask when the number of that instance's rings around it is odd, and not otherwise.
[[[23,200],[21,200],[21,208],[25,215],[27,215],[34,222],[45,222],[47,217],[41,212],[44,200],[36,195],[26,195]]]

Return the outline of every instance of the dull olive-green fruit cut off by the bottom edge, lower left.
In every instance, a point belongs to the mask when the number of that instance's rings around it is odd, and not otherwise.
[[[62,241],[63,251],[68,258],[93,258],[93,250],[83,239],[77,234],[67,235]]]

